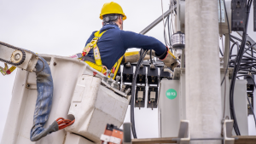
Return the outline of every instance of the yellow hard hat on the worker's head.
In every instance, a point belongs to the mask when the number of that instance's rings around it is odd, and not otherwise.
[[[119,5],[119,3],[114,3],[114,2],[110,2],[110,3],[104,3],[103,7],[102,7],[102,12],[100,14],[100,19],[103,19],[103,15],[105,14],[122,14],[123,15],[123,20],[126,19],[126,15],[123,12],[122,7]]]

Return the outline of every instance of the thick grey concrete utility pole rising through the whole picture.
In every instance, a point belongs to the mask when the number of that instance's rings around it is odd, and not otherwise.
[[[221,137],[218,0],[186,0],[186,117],[191,138]],[[215,141],[194,143],[220,144]]]

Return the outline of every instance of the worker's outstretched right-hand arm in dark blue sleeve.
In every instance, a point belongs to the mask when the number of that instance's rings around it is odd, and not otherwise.
[[[166,46],[154,37],[144,36],[135,32],[120,32],[125,49],[141,48],[154,49],[155,55],[160,56],[166,52]]]

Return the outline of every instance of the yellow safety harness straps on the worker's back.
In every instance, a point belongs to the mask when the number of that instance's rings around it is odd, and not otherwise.
[[[107,30],[108,31],[108,30]],[[107,32],[104,31],[104,32]],[[95,63],[91,62],[89,60],[85,60],[83,58],[80,58],[80,60],[84,60],[89,66],[91,66],[92,68],[96,69],[98,72],[102,72],[103,74],[107,74],[107,70],[108,68],[106,66],[102,65],[102,59],[101,59],[101,54],[100,54],[100,50],[97,46],[97,42],[98,40],[102,37],[103,33],[100,33],[100,31],[95,32],[94,33],[94,38],[90,41],[90,43],[88,43],[82,53],[82,56],[86,56],[89,54],[90,49],[93,49],[93,54],[94,54],[94,59],[95,59]],[[116,73],[119,70],[119,66],[121,64],[121,61],[123,59],[124,56],[120,57],[119,60],[113,65],[112,69],[111,69],[111,73],[113,73],[113,79],[116,76]]]

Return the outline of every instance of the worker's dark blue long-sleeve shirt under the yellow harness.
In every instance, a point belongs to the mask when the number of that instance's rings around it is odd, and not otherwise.
[[[154,37],[144,36],[135,32],[121,31],[116,25],[105,25],[102,27],[102,37],[98,40],[97,46],[100,50],[102,65],[111,69],[115,62],[125,54],[126,49],[141,48],[154,49],[155,55],[163,55],[166,51],[166,46]],[[87,43],[90,43],[94,37],[94,33],[90,35]],[[90,49],[88,54],[94,59],[93,50]]]

